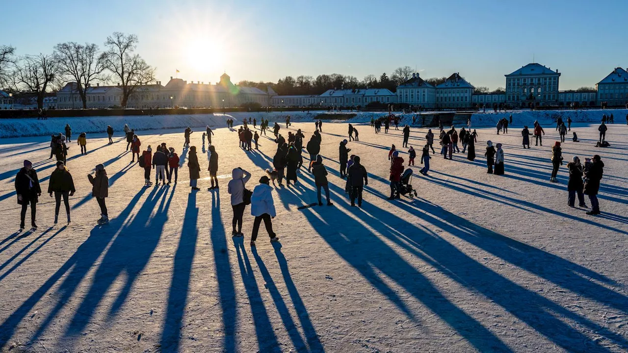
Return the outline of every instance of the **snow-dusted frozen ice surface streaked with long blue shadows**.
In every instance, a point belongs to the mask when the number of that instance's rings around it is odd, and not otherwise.
[[[360,142],[348,147],[369,172],[362,209],[350,207],[338,177],[347,124],[323,123],[335,206],[297,210],[316,198],[303,170],[295,187],[274,189],[280,244],[261,227],[256,248],[248,245],[249,207],[244,239],[230,237],[227,182],[241,166],[253,175],[247,187],[257,185],[276,150],[264,136],[259,152],[245,153],[235,132],[215,129],[220,189],[208,192],[203,129],[195,129],[203,178],[196,193],[185,164],[176,185],[144,188],[143,169],[129,163],[119,133],[112,145],[104,134],[89,134],[85,156],[73,139],[73,222],[53,225],[54,202],[44,193],[39,229],[22,233],[14,176],[31,160],[45,190],[54,168],[46,161],[50,140],[1,139],[0,352],[625,352],[628,126],[625,112],[614,112],[611,148],[593,146],[592,122],[572,124],[581,142],[563,144],[566,161],[602,156],[598,216],[567,206],[566,166],[560,183],[549,182],[549,146],[558,140],[551,118],[543,121],[542,147],[521,148],[522,124],[534,116],[513,114],[509,134],[477,129],[473,162],[460,154],[443,160],[437,151],[425,177],[417,158],[418,198],[393,202],[386,200],[387,153],[401,146],[401,130],[376,135],[357,125]],[[119,124],[99,123],[107,119]],[[313,124],[290,129],[298,128],[308,141]],[[143,148],[165,142],[184,157],[182,130],[139,135]],[[80,131],[75,126],[73,138]],[[425,133],[412,128],[418,156]],[[487,139],[504,144],[504,176],[485,173]],[[98,163],[110,178],[111,223],[102,227],[87,180]]]

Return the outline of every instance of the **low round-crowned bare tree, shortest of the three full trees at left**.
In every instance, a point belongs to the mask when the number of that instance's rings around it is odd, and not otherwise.
[[[13,89],[37,95],[37,107],[43,108],[46,92],[58,79],[59,65],[54,55],[26,55],[14,63]]]

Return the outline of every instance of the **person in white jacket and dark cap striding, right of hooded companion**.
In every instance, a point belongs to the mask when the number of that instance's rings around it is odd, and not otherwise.
[[[257,239],[257,231],[259,231],[259,224],[264,220],[266,231],[271,237],[271,242],[279,241],[279,238],[273,232],[273,219],[275,217],[275,209],[273,202],[273,188],[269,185],[268,176],[262,176],[259,179],[259,185],[253,190],[251,196],[251,215],[255,216],[253,221],[253,232],[251,234],[251,246],[255,246]]]

